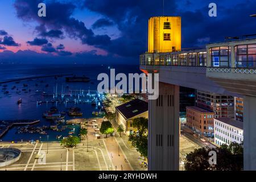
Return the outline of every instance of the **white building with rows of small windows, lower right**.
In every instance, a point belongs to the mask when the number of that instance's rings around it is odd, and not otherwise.
[[[243,141],[243,123],[231,118],[214,119],[214,142],[221,146]]]

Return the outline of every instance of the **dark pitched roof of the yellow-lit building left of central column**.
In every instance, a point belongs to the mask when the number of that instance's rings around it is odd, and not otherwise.
[[[115,107],[126,119],[135,117],[138,114],[142,114],[148,110],[148,104],[145,101],[136,98],[130,102]]]

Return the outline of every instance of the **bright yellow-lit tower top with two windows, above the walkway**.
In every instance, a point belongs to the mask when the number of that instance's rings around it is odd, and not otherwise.
[[[181,49],[181,17],[156,16],[148,20],[148,52],[172,52]]]

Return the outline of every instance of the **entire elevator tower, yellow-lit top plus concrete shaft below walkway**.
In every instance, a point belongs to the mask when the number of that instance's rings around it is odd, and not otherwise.
[[[158,16],[148,20],[148,55],[180,51],[181,18]],[[156,73],[148,67],[148,73]],[[159,73],[160,75],[163,73]],[[179,170],[179,86],[159,82],[159,97],[148,100],[148,170]]]

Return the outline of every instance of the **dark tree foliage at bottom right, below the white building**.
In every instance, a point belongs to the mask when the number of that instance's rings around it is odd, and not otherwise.
[[[217,164],[209,164],[209,152],[216,151]],[[223,144],[218,148],[199,148],[185,158],[185,170],[188,171],[241,171],[243,169],[243,143]]]

